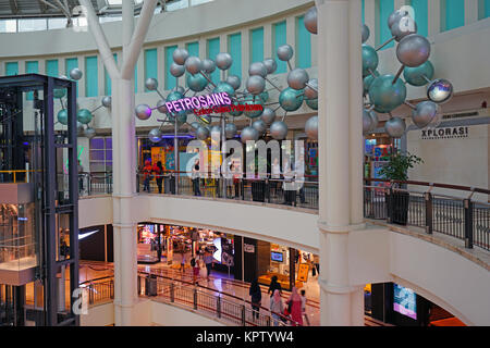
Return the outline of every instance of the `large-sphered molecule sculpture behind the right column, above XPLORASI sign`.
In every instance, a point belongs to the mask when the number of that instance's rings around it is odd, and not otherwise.
[[[305,14],[305,27],[311,34],[317,34],[317,9],[310,8]],[[406,10],[396,10],[388,18],[392,37],[378,48],[366,45],[369,39],[369,27],[363,25],[363,79],[365,109],[363,112],[363,133],[372,133],[378,127],[378,115],[389,114],[384,124],[385,133],[400,138],[405,134],[406,122],[392,112],[402,104],[409,107],[412,122],[418,128],[437,127],[442,119],[440,104],[448,102],[453,95],[452,84],[443,78],[432,79],[434,66],[429,61],[430,42],[417,34],[417,24]],[[378,72],[378,51],[392,41],[396,41],[396,59],[401,67],[395,75]],[[402,80],[403,74],[405,80]],[[427,86],[428,100],[416,105],[406,101],[407,87]]]

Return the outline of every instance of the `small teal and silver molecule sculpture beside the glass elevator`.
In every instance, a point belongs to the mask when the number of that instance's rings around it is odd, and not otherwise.
[[[70,77],[73,80],[78,80],[83,76],[82,71],[78,67],[74,67],[70,71]],[[66,76],[60,76],[60,78],[69,79]],[[61,103],[61,110],[58,112],[57,115],[57,123],[60,123],[62,125],[68,125],[68,110],[65,108],[65,104],[63,103],[63,98],[66,96],[66,89],[64,88],[58,88],[53,90],[53,97],[60,100]],[[99,110],[100,108],[110,109],[111,108],[112,98],[110,96],[106,96],[101,100],[101,104],[97,107],[94,110],[87,110],[87,109],[78,109],[76,112],[76,127],[78,135],[83,135],[86,138],[94,138],[96,135],[96,132],[93,127],[90,127],[88,124],[94,120],[94,113]]]

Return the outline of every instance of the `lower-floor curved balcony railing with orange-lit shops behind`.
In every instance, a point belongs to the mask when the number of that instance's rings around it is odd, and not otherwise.
[[[110,302],[114,298],[113,276],[81,283],[88,290],[88,304]],[[155,273],[138,273],[138,296],[155,297],[169,304],[211,314],[240,326],[294,326],[291,318],[260,307],[254,319],[252,303],[231,294],[218,291],[192,282]]]

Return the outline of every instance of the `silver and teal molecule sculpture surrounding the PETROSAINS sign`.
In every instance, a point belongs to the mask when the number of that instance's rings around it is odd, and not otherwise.
[[[173,88],[167,97],[163,97],[158,91],[158,80],[156,78],[148,78],[145,86],[148,90],[157,91],[161,100],[157,102],[156,108],[150,108],[147,104],[139,104],[135,109],[135,115],[139,120],[148,120],[154,110],[166,114],[166,119],[157,120],[175,125],[187,123],[187,115],[194,113],[194,110],[186,111],[169,111],[167,103],[177,101],[183,98],[192,98],[206,96],[209,94],[226,92],[232,100],[232,108],[226,112],[221,112],[221,115],[216,114],[200,114],[195,113],[198,122],[192,122],[193,129],[197,139],[206,140],[212,135],[221,134],[230,139],[237,135],[237,127],[234,124],[235,117],[242,114],[249,120],[249,125],[241,130],[240,138],[242,142],[247,140],[258,140],[261,136],[267,134],[269,128],[270,135],[277,140],[283,140],[287,135],[287,125],[284,117],[287,112],[298,110],[304,102],[313,109],[318,109],[318,80],[309,78],[304,69],[293,69],[291,66],[291,59],[293,58],[293,48],[284,45],[278,48],[278,59],[287,62],[287,88],[281,89],[278,87],[269,75],[274,74],[278,64],[274,59],[268,58],[262,62],[254,62],[248,67],[248,77],[245,86],[242,87],[242,79],[232,74],[226,74],[226,71],[233,64],[232,57],[226,52],[221,52],[216,55],[215,60],[199,59],[198,57],[189,55],[187,50],[179,48],[173,52],[173,63],[170,66],[170,74],[176,78],[176,87]],[[216,69],[221,71],[221,80],[215,83],[211,79],[211,74]],[[187,89],[179,86],[179,78],[186,74]],[[270,85],[267,89],[267,85]],[[279,100],[277,102],[269,101],[269,91],[275,89],[279,91]],[[235,108],[233,108],[235,107]],[[240,108],[238,108],[240,107]],[[279,109],[284,111],[281,120],[277,119]],[[221,120],[224,124],[224,129],[221,126],[210,126],[213,120]],[[150,141],[159,142],[162,136],[161,128],[154,128],[148,134]],[[311,126],[314,123],[311,123]],[[310,132],[311,136],[317,133]]]

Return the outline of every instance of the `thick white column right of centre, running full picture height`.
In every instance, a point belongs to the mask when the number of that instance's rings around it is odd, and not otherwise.
[[[348,279],[348,232],[363,221],[360,0],[318,0],[317,10],[320,324],[348,326],[364,320]]]

